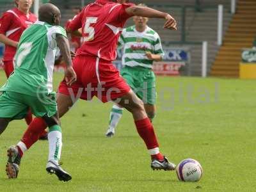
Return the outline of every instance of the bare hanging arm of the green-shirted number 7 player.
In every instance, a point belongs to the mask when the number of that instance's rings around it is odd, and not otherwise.
[[[56,35],[56,42],[60,48],[61,55],[65,61],[67,68],[65,70],[65,81],[68,85],[71,85],[76,81],[76,72],[72,67],[72,59],[70,55],[70,47],[68,44],[68,39],[63,35]]]

